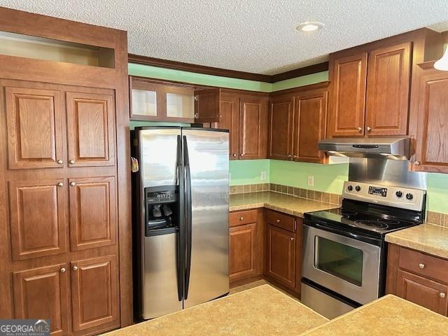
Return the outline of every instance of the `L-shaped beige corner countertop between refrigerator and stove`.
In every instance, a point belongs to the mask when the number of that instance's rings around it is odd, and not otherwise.
[[[307,200],[300,197],[263,191],[230,195],[229,210],[247,210],[265,207],[285,214],[303,217],[305,212],[338,208],[338,204]]]

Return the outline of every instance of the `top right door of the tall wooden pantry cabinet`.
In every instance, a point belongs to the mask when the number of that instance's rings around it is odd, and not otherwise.
[[[109,94],[66,92],[69,166],[113,166],[115,99]]]

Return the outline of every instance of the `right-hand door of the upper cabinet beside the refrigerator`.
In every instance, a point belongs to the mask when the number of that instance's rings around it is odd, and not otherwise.
[[[266,158],[267,99],[241,96],[239,105],[239,158]]]

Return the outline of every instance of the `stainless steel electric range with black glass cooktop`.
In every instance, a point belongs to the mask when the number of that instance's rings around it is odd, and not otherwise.
[[[346,181],[342,197],[304,214],[302,302],[328,318],[384,295],[384,236],[423,223],[426,191]]]

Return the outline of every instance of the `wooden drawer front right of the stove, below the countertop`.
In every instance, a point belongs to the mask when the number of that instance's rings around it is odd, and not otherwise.
[[[448,282],[448,260],[426,255],[407,248],[400,248],[400,261],[398,266],[414,274]]]

